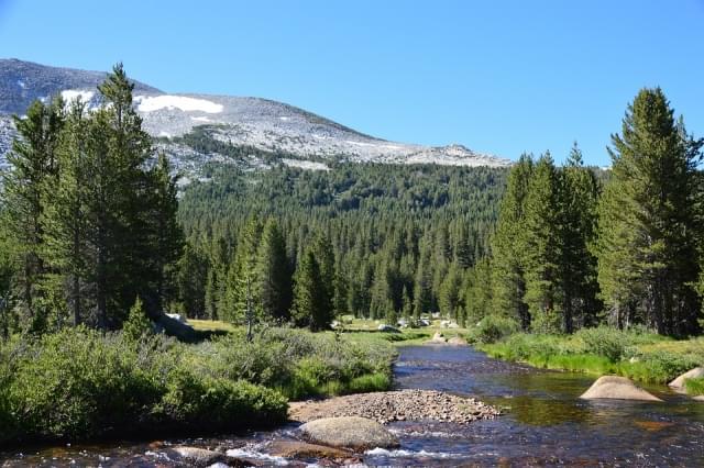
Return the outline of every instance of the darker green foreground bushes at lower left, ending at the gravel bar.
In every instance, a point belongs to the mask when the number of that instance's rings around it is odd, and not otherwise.
[[[194,346],[85,327],[0,346],[0,443],[280,422],[272,389],[213,377]]]

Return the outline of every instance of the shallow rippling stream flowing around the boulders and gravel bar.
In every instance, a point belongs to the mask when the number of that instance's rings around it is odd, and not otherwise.
[[[361,455],[383,466],[704,466],[704,403],[647,387],[663,403],[582,401],[594,377],[541,371],[487,358],[468,347],[400,348],[395,382],[402,389],[442,390],[474,395],[505,415],[466,426],[393,423],[400,449]],[[290,425],[240,436],[179,439],[229,450],[263,465],[306,466],[267,454],[272,439],[296,436]],[[0,454],[9,466],[169,466],[160,444],[122,443],[24,449]]]

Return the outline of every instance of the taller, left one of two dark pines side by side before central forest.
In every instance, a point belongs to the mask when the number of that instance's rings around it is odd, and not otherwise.
[[[258,298],[262,311],[275,322],[287,322],[293,300],[292,274],[284,236],[274,220],[264,226],[257,258]]]

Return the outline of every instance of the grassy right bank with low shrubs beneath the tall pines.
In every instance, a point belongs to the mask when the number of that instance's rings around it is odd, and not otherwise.
[[[704,339],[675,341],[644,332],[585,328],[573,335],[512,334],[477,343],[488,356],[538,368],[619,375],[647,383],[668,383],[704,364]],[[700,394],[696,383],[688,387]]]

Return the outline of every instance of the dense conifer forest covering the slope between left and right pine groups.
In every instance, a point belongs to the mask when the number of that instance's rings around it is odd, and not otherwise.
[[[463,322],[468,272],[487,253],[506,169],[340,164],[209,175],[179,200],[188,292],[173,309],[242,322],[249,279],[256,313],[310,326],[315,308],[304,302],[329,309],[328,321],[440,311]]]

